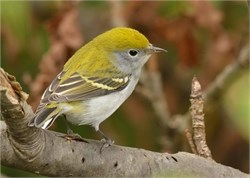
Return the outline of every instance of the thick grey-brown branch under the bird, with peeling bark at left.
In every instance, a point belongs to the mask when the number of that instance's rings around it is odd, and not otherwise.
[[[247,177],[239,170],[179,152],[156,153],[112,145],[100,153],[102,142],[66,140],[60,133],[28,127],[33,117],[22,95],[16,95],[3,70],[0,121],[1,164],[46,176],[103,177]],[[10,83],[3,86],[2,83]],[[20,89],[20,88],[19,88]],[[10,94],[11,93],[11,94]]]

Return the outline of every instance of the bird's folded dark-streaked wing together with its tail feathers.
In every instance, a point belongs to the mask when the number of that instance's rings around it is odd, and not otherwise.
[[[36,116],[29,123],[30,126],[43,127],[43,124],[48,121],[49,123],[45,127],[48,128],[60,115],[61,111],[57,108],[57,103],[88,100],[120,91],[128,85],[130,80],[130,76],[119,78],[82,77],[78,73],[74,73],[61,82],[64,74],[64,71],[58,74],[44,92],[36,110]]]

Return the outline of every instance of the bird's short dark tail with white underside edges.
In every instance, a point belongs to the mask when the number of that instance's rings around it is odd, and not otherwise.
[[[42,129],[49,128],[56,118],[61,114],[60,109],[57,107],[53,108],[44,108],[38,113],[35,117],[29,122],[29,126],[35,126]]]

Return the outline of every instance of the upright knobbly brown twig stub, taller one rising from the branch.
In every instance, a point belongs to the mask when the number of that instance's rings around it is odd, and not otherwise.
[[[203,113],[203,98],[201,85],[196,77],[192,80],[190,95],[190,114],[193,122],[193,140],[198,154],[204,158],[212,159],[211,151],[206,143],[205,121]]]

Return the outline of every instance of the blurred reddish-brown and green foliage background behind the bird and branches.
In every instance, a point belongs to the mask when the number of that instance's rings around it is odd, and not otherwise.
[[[206,89],[235,62],[248,43],[245,1],[1,1],[1,66],[16,76],[37,107],[42,92],[67,59],[84,43],[126,25],[168,50],[146,65],[160,73],[170,120],[188,111],[194,75]],[[249,69],[205,106],[207,141],[213,158],[249,173]],[[158,152],[190,151],[185,133],[164,128],[154,100],[136,92],[101,128],[116,144]],[[51,129],[65,132],[58,119]],[[191,123],[189,125],[190,129]],[[72,126],[83,137],[100,139],[89,126]],[[2,175],[34,176],[2,167]]]

